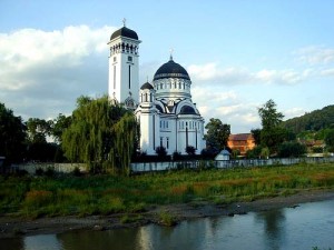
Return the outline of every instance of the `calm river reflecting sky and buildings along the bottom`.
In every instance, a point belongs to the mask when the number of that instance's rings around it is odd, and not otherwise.
[[[0,250],[334,250],[334,200],[235,217],[0,240]]]

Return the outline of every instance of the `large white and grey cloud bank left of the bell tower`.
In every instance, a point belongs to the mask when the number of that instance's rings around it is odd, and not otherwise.
[[[49,118],[70,113],[81,94],[105,93],[114,30],[71,26],[0,33],[0,101],[24,119]]]

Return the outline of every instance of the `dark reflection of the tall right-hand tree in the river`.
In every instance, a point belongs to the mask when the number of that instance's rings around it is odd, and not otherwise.
[[[284,210],[272,210],[256,213],[256,221],[264,224],[264,239],[267,249],[281,249],[281,242],[285,238]]]

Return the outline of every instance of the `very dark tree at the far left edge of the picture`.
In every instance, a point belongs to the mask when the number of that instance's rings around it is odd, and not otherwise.
[[[19,162],[23,159],[26,146],[26,126],[21,117],[16,117],[12,110],[0,102],[0,156],[8,162]]]

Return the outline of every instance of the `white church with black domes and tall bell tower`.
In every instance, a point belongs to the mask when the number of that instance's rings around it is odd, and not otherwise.
[[[188,72],[170,59],[159,67],[151,82],[139,88],[138,34],[125,24],[108,42],[109,98],[134,110],[140,124],[140,151],[156,154],[164,147],[167,154],[186,154],[194,147],[196,154],[205,148],[204,118],[191,100]]]

